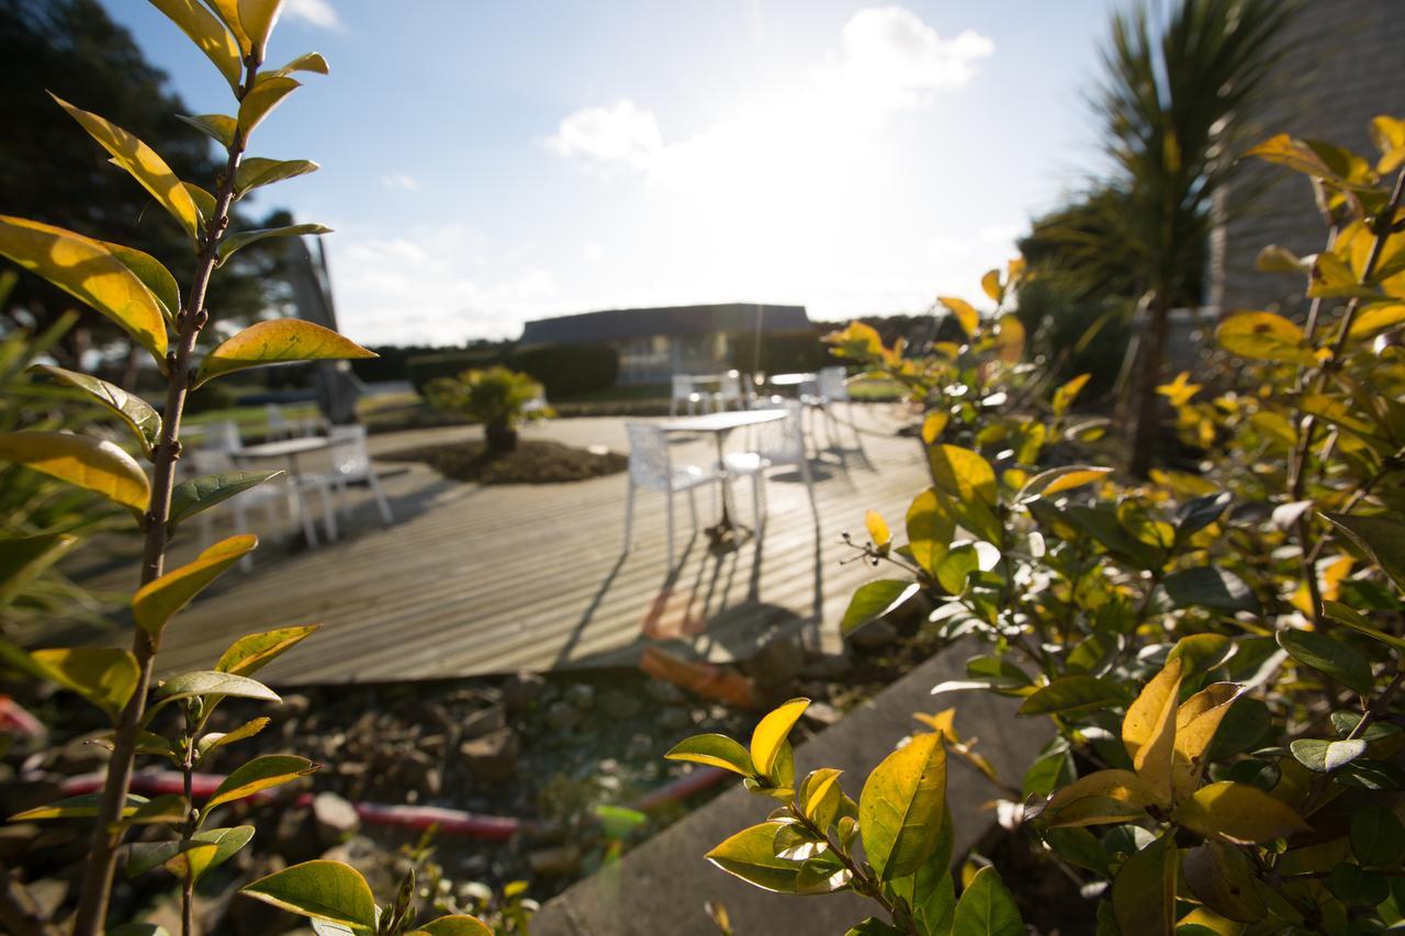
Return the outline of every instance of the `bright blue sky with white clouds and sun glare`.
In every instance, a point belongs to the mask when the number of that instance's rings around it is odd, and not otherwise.
[[[155,7],[103,0],[195,114],[232,112]],[[812,319],[978,294],[1096,164],[1111,0],[288,0],[322,52],[250,155],[334,229],[367,344],[517,337],[606,308],[776,302]]]

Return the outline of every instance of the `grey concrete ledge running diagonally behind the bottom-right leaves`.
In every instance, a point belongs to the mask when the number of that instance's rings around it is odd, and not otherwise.
[[[1043,718],[1014,718],[1016,700],[964,691],[933,698],[944,679],[965,675],[974,651],[958,644],[894,683],[837,725],[801,745],[795,773],[842,767],[844,791],[856,800],[863,779],[892,746],[917,728],[915,711],[957,706],[957,728],[979,738],[981,750],[999,776],[1017,784],[1038,748],[1050,738]],[[746,739],[742,739],[743,742]],[[991,826],[981,805],[995,788],[955,758],[947,777],[947,804],[955,822],[955,853],[967,852]],[[754,825],[770,811],[767,802],[736,788],[719,795],[624,856],[615,867],[576,883],[549,901],[532,919],[537,936],[717,936],[702,909],[721,901],[738,933],[843,933],[870,916],[877,905],[853,894],[784,897],[752,887],[708,864],[702,854],[718,842]]]

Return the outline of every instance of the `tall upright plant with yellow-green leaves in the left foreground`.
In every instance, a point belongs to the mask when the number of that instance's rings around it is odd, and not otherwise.
[[[101,708],[112,722],[110,760],[101,794],[73,797],[28,810],[17,821],[93,819],[86,876],[72,932],[96,936],[108,916],[112,876],[122,839],[136,826],[163,826],[169,838],[143,835],[126,847],[125,871],[138,876],[157,867],[183,884],[183,933],[191,933],[194,888],[209,871],[228,862],[256,835],[253,825],[221,826],[223,808],[318,769],[306,758],[266,755],[235,766],[215,793],[197,805],[192,774],[268,724],[254,718],[229,732],[207,731],[211,714],[230,697],[277,703],[278,696],[253,676],[306,639],[315,627],[287,627],[236,639],[208,670],[181,673],[153,686],[153,662],[173,620],[202,589],[257,545],[253,535],[232,535],[194,561],[167,571],[167,545],[190,517],[280,472],[230,472],[176,483],[180,422],[187,394],[201,384],[249,367],[316,358],[367,357],[368,351],[340,334],[299,320],[266,320],[233,334],[200,354],[198,339],[209,322],[207,288],[211,274],[237,250],[267,238],[322,233],[320,225],[291,225],[263,230],[229,230],[230,207],[247,193],[318,169],[308,160],[244,156],[253,131],[299,87],[298,73],[326,74],[318,53],[298,56],[285,66],[261,70],[264,48],[281,7],[280,0],[197,3],[153,0],[216,66],[235,94],[236,114],[183,117],[195,131],[218,142],[226,155],[214,178],[214,193],[184,181],[146,143],[103,117],[55,98],[176,221],[195,257],[195,274],[183,298],[176,278],[152,256],[117,243],[38,221],[0,215],[0,254],[48,280],[107,316],[150,354],[167,378],[166,408],[157,413],[145,401],[77,371],[41,367],[52,382],[87,395],[128,433],[125,444],[93,434],[56,431],[59,426],[34,420],[27,427],[4,426],[0,458],[84,489],[129,512],[145,540],[140,587],[131,597],[132,649],[112,646],[55,646],[24,651],[0,642],[0,658],[35,679],[49,680]],[[10,346],[7,346],[10,347]],[[17,363],[17,361],[11,361]],[[150,462],[152,474],[139,460]],[[13,472],[14,469],[7,469]],[[0,597],[8,602],[52,564],[55,551],[72,545],[66,531],[0,540]],[[163,725],[173,729],[159,734]],[[184,774],[184,794],[152,800],[128,793],[138,756],[170,762]],[[11,901],[7,881],[0,912],[24,915],[22,901]],[[488,933],[471,916],[443,916],[414,928],[413,876],[398,895],[378,905],[365,878],[337,862],[306,862],[275,871],[242,892],[309,918],[320,933],[393,935],[413,929],[427,936]],[[52,922],[24,916],[24,929],[55,932]],[[112,932],[152,933],[150,925],[128,925]]]

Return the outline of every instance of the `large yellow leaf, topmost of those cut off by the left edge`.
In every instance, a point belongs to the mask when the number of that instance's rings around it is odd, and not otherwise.
[[[166,316],[160,299],[101,242],[0,215],[0,256],[112,319],[150,351],[157,365],[166,367]]]

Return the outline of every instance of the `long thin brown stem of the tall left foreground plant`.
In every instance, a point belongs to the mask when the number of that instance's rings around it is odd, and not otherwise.
[[[239,97],[243,98],[254,84],[260,60],[246,60],[244,83]],[[176,461],[180,458],[180,420],[190,391],[191,356],[200,330],[204,327],[205,292],[215,270],[219,242],[229,226],[229,207],[235,198],[235,171],[244,152],[243,135],[236,131],[230,142],[225,171],[219,177],[219,193],[215,198],[215,216],[209,219],[205,236],[200,245],[195,277],[191,280],[185,308],[177,318],[178,337],[176,350],[167,354],[170,378],[166,389],[166,409],[162,422],[162,438],[155,453],[152,474],[152,499],[142,520],[146,534],[142,550],[142,585],[157,579],[166,564],[167,520],[170,519],[171,485],[176,478]],[[93,840],[89,849],[87,867],[83,874],[83,888],[79,908],[73,918],[73,936],[98,936],[107,918],[108,901],[112,897],[112,876],[117,871],[117,849],[122,843],[125,829],[119,825],[126,791],[132,783],[132,766],[136,756],[136,739],[140,732],[142,715],[146,711],[146,696],[152,686],[157,639],[142,628],[132,635],[132,654],[136,656],[139,676],[132,697],[128,700],[117,722],[112,738],[112,758],[108,762],[107,781],[93,824]]]

